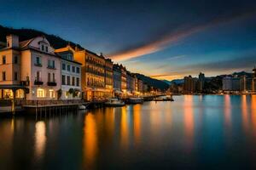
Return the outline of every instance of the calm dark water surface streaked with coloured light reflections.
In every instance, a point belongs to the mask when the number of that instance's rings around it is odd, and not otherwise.
[[[256,96],[0,120],[0,169],[255,169]]]

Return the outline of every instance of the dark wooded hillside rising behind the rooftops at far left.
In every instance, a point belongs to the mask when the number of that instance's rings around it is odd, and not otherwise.
[[[15,34],[20,37],[20,41],[31,39],[32,37],[38,37],[44,35],[53,48],[63,48],[66,47],[67,41],[62,39],[61,37],[57,37],[55,35],[49,35],[43,31],[37,31],[32,29],[14,29],[9,27],[4,27],[0,25],[0,42],[6,42],[6,36],[9,34]],[[71,46],[75,47],[76,43],[69,42]],[[82,48],[79,44],[77,44],[79,48]]]

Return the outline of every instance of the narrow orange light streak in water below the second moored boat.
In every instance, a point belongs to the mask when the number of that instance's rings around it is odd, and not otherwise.
[[[134,105],[133,107],[133,130],[134,139],[137,144],[141,137],[141,105]]]

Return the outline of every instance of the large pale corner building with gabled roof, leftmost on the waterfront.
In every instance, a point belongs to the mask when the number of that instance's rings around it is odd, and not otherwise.
[[[20,42],[18,36],[9,35],[0,57],[2,98],[57,99],[61,57],[44,36]]]

